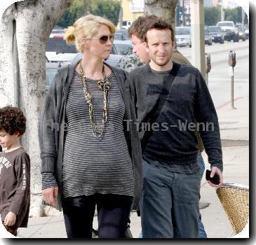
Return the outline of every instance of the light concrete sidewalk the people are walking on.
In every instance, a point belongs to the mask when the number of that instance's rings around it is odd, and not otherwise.
[[[217,108],[220,122],[224,161],[224,183],[239,183],[249,185],[249,106],[248,98],[236,99],[234,106],[224,104]],[[203,159],[207,162],[206,153]],[[210,165],[206,164],[206,169]],[[209,206],[200,209],[202,221],[208,234],[208,238],[227,238],[234,236],[233,230],[222,208],[215,188],[211,188],[205,179],[201,183],[201,202]],[[130,230],[133,237],[140,233],[140,217],[133,213],[130,217]],[[97,228],[97,216],[93,221],[93,228]],[[63,216],[50,216],[41,218],[29,218],[28,228],[19,229],[19,237],[29,238],[65,238],[65,224]]]

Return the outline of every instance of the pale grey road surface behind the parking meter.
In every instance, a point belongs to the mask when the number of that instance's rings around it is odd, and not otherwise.
[[[184,57],[191,62],[191,48],[177,48]],[[208,73],[208,87],[215,107],[230,101],[229,51],[236,52],[236,66],[234,67],[234,98],[249,96],[249,40],[224,44],[213,43],[206,45],[206,52],[210,53],[212,69]],[[236,102],[234,102],[236,106]]]

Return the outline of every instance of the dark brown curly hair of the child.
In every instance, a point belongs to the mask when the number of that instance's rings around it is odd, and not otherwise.
[[[26,118],[18,107],[5,106],[0,108],[0,130],[5,130],[13,135],[19,132],[20,135],[26,131]]]

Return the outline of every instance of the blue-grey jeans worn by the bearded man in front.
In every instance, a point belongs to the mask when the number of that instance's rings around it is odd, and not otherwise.
[[[200,174],[170,172],[143,160],[143,238],[198,238]]]

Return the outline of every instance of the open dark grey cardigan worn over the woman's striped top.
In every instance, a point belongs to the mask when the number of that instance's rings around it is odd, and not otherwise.
[[[63,66],[53,79],[48,94],[43,103],[39,120],[39,146],[41,150],[41,173],[52,172],[58,183],[59,193],[57,209],[62,210],[62,156],[65,134],[65,107],[69,85],[74,75],[75,59],[69,66]],[[109,66],[109,65],[108,65]],[[136,130],[135,106],[133,104],[133,92],[128,81],[128,73],[110,66],[116,76],[125,103],[123,117],[123,131],[128,144],[130,158],[133,162],[133,174],[135,178],[135,193],[133,208],[142,190],[142,153],[140,138]]]

